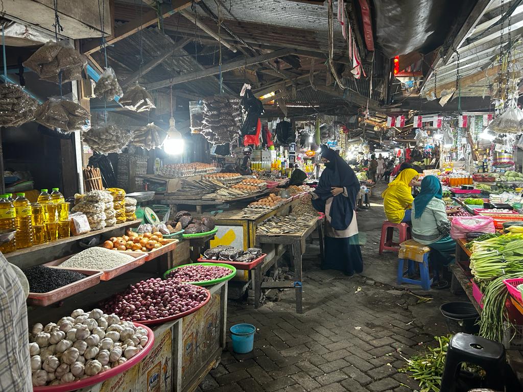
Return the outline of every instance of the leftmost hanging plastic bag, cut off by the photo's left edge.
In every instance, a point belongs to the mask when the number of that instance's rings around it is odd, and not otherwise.
[[[35,119],[36,99],[27,95],[16,84],[0,86],[0,125],[19,126]]]

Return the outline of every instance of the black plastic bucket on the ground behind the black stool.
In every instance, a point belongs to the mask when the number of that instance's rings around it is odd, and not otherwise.
[[[450,333],[471,333],[480,331],[476,324],[480,315],[470,302],[447,302],[439,307],[441,314],[445,317],[445,323]]]

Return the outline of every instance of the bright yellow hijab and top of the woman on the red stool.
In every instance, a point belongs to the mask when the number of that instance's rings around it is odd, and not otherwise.
[[[414,198],[411,188],[419,174],[414,169],[400,171],[394,181],[381,194],[383,198],[383,210],[390,222],[401,223],[411,221],[411,207]]]

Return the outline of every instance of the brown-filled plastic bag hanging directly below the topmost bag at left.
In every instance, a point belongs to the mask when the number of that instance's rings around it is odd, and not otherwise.
[[[73,132],[81,130],[89,122],[89,113],[68,99],[50,98],[37,108],[35,121],[48,128]]]

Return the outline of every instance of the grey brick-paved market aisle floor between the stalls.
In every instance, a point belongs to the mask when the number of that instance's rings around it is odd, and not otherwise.
[[[280,301],[254,309],[229,302],[229,326],[248,322],[259,330],[255,349],[244,355],[222,354],[222,363],[204,379],[199,390],[248,392],[408,391],[417,386],[397,372],[420,343],[447,331],[439,304],[451,298],[435,292],[433,301],[395,290],[396,263],[392,253],[378,255],[384,220],[379,186],[369,211],[358,214],[365,269],[348,279],[322,271],[317,242],[304,260],[305,314],[294,311],[294,292],[279,293]],[[415,286],[410,286],[414,289]],[[402,289],[404,287],[402,286]],[[421,293],[416,290],[417,293]]]

